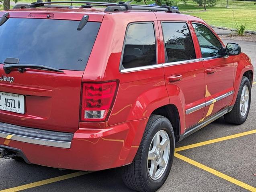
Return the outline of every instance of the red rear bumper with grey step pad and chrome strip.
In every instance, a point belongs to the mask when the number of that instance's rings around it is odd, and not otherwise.
[[[78,129],[72,135],[53,131],[38,135],[33,134],[33,130],[39,129],[24,127],[22,132],[19,126],[4,132],[1,127],[9,124],[0,123],[0,145],[20,150],[32,164],[84,171],[104,170],[132,162],[146,123],[147,119],[141,119],[106,129]],[[49,135],[50,132],[53,135]]]

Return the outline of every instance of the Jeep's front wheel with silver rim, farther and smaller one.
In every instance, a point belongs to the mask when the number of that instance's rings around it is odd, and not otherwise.
[[[241,125],[246,121],[251,104],[251,84],[247,77],[242,77],[236,103],[229,113],[224,115],[227,123]]]

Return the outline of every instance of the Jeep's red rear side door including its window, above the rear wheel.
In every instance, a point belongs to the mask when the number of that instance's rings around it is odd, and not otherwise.
[[[203,63],[186,22],[161,22],[165,63],[164,74],[170,103],[176,95],[182,101],[185,128],[197,124],[205,109],[205,74]]]

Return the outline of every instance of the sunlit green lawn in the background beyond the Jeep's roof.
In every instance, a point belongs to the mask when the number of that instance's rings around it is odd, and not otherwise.
[[[35,2],[36,0],[21,0],[20,2]],[[62,0],[52,0],[52,1],[62,1]],[[100,1],[100,0],[91,0]],[[104,0],[101,0],[104,1]],[[117,0],[118,1],[118,0]],[[154,3],[154,1],[147,1],[147,4]],[[192,0],[188,0],[186,4],[179,3],[177,6],[180,12],[184,14],[189,14],[192,16],[197,16],[205,20],[210,25],[223,26],[227,28],[236,28],[236,23],[233,20],[235,16],[238,26],[246,22],[246,30],[256,31],[256,6],[255,2],[252,1],[235,1],[229,0],[228,6],[226,8],[226,0],[218,0],[217,5],[214,7],[207,7],[204,11],[203,6],[199,7],[198,4]],[[144,4],[132,2],[132,4]],[[76,5],[76,4],[73,4]],[[78,5],[78,4],[77,4]],[[79,5],[78,5],[79,6]],[[0,7],[1,10],[2,7]]]

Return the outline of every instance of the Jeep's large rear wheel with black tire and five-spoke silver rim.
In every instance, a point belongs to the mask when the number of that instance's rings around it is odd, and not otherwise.
[[[133,162],[123,167],[125,185],[139,192],[158,190],[170,173],[174,142],[170,121],[160,115],[150,116]]]

